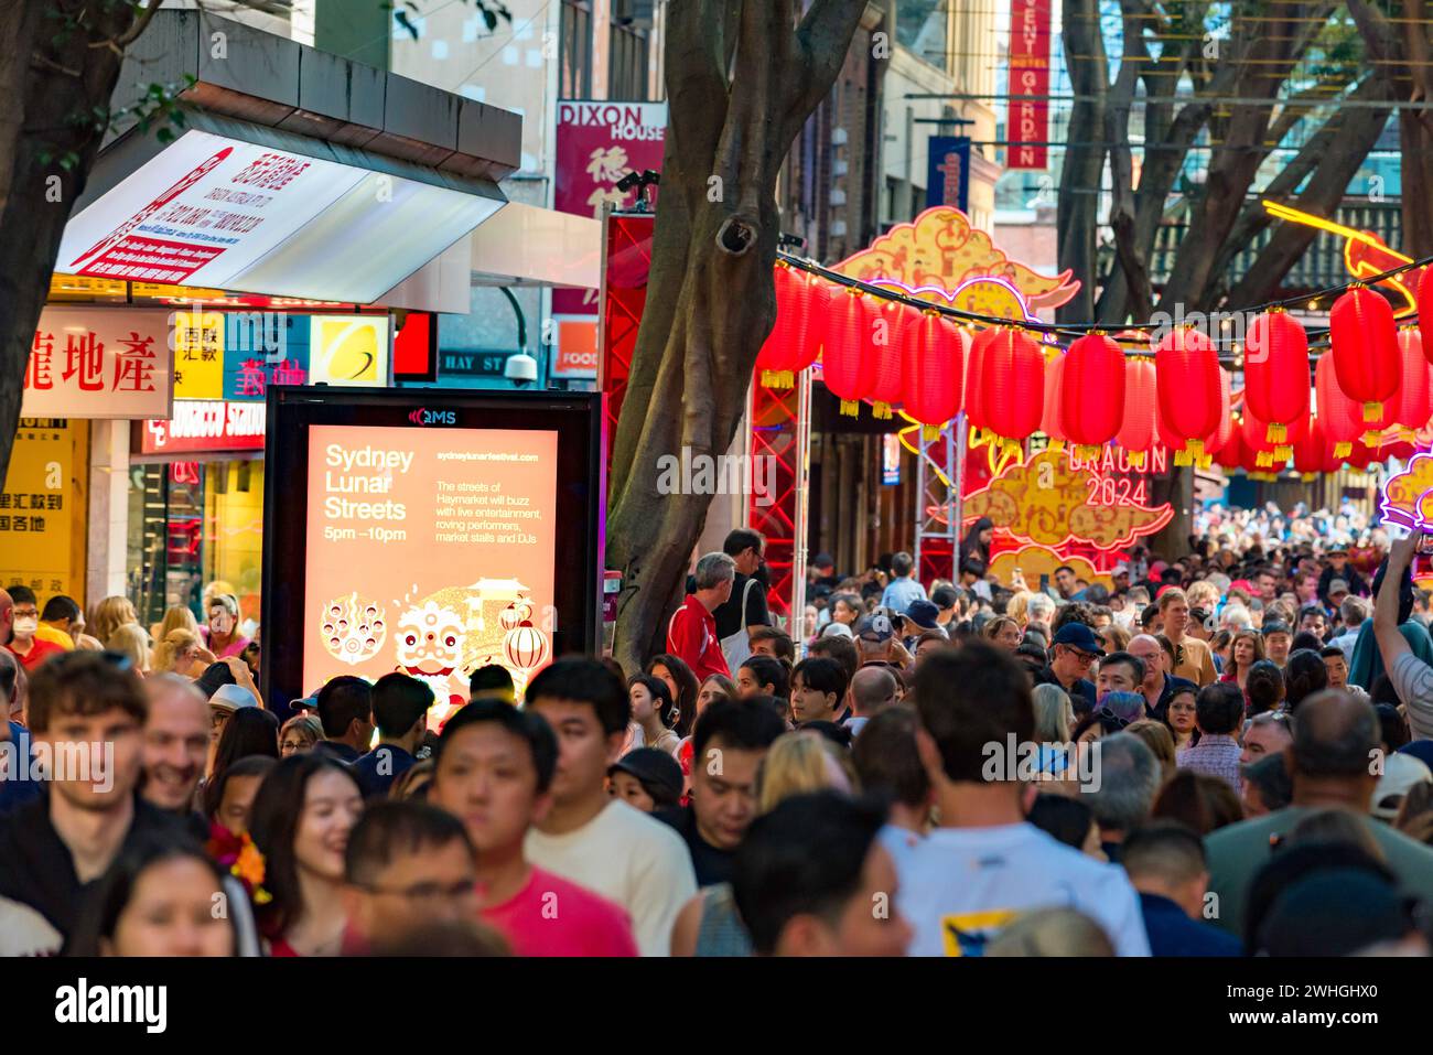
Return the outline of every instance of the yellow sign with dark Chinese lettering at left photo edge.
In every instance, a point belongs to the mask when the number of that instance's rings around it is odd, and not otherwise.
[[[21,417],[0,490],[0,586],[24,585],[43,605],[79,598],[75,509],[77,430],[63,419]]]

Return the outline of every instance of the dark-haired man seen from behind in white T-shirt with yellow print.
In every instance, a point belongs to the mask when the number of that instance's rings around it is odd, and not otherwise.
[[[893,850],[896,904],[914,930],[910,955],[979,953],[1016,915],[1052,904],[1089,912],[1122,955],[1148,955],[1123,873],[1025,820],[1016,760],[990,773],[987,744],[1029,743],[1035,732],[1030,684],[1009,654],[973,641],[933,657],[916,674],[916,708],[940,827],[914,847]],[[1158,770],[1154,755],[1149,761]],[[906,841],[888,837],[897,847]]]

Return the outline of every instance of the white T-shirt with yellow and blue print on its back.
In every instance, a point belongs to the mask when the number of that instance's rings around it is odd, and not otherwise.
[[[914,932],[910,956],[980,956],[1022,912],[1069,907],[1093,919],[1119,956],[1148,956],[1139,896],[1123,869],[1065,846],[1033,824],[936,829],[917,840],[887,826],[896,903]]]

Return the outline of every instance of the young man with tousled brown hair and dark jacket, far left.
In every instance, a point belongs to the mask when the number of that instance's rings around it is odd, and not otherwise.
[[[0,814],[0,897],[30,906],[63,939],[86,886],[128,840],[182,827],[138,794],[149,701],[135,671],[103,652],[62,652],[36,669],[27,710],[36,747],[52,757],[63,744],[105,745],[105,780],[89,765],[57,765],[42,797]]]

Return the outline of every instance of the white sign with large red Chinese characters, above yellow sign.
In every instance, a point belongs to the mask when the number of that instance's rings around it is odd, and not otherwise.
[[[46,308],[24,374],[26,417],[169,417],[168,311]]]

